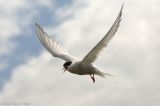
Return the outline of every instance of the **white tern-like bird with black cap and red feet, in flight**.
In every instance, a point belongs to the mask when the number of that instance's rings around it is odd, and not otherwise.
[[[89,75],[93,81],[95,82],[94,75],[101,76],[106,78],[107,76],[113,76],[112,74],[105,73],[97,68],[93,63],[96,61],[100,52],[107,47],[109,41],[115,35],[120,26],[121,17],[122,17],[123,5],[119,11],[119,14],[111,26],[110,30],[106,33],[106,35],[98,42],[98,44],[91,49],[91,51],[84,56],[83,59],[77,59],[76,57],[70,55],[66,49],[64,49],[60,44],[58,44],[55,39],[50,37],[39,24],[36,23],[36,30],[38,38],[41,44],[54,56],[61,58],[65,61],[63,64],[63,70],[69,71],[73,74],[78,75]]]

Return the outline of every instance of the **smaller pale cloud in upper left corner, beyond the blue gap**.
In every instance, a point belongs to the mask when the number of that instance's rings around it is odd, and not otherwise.
[[[23,35],[22,26],[27,26],[33,20],[38,10],[34,7],[50,6],[51,0],[0,0],[0,55],[11,53],[15,44],[11,38]],[[53,5],[53,4],[52,4]],[[20,11],[27,10],[27,15],[21,16]],[[26,11],[25,11],[26,12]]]

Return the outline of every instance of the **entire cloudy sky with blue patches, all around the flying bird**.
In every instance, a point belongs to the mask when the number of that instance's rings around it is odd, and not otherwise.
[[[40,44],[35,22],[83,58],[121,25],[94,63],[120,78],[62,72]],[[0,0],[0,106],[159,106],[159,0]]]

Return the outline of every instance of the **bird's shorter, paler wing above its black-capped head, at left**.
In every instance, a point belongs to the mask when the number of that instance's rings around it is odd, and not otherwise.
[[[60,46],[53,38],[51,38],[41,27],[36,23],[37,35],[41,44],[54,56],[65,61],[75,61],[76,58]]]

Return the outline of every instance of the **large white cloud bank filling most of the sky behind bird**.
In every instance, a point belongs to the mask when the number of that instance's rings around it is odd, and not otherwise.
[[[61,17],[72,17],[48,32],[56,33],[60,42],[66,40],[63,43],[73,54],[84,56],[109,29],[120,5],[116,0],[75,3],[58,11],[68,12]],[[93,85],[89,76],[63,75],[62,62],[42,53],[14,69],[0,100],[33,106],[158,106],[159,5],[158,0],[127,1],[116,36],[96,62],[104,71],[124,76],[124,81],[96,77]]]

